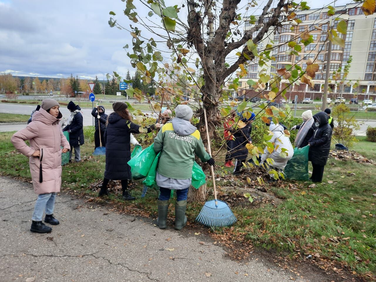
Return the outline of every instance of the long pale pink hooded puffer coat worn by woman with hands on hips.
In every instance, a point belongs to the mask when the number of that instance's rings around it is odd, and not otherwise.
[[[44,109],[33,114],[33,121],[26,128],[14,133],[11,141],[23,155],[29,157],[30,174],[33,179],[34,192],[45,194],[59,192],[61,186],[61,148],[70,150],[67,138],[58,124],[61,118],[50,115]],[[30,147],[25,140],[30,141]],[[39,150],[40,156],[33,157]],[[39,182],[39,168],[42,163],[42,182]]]

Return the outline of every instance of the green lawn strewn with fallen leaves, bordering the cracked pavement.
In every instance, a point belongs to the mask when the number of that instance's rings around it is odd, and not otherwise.
[[[10,132],[0,134],[0,174],[30,179],[28,159],[14,150],[9,141],[11,136]],[[63,167],[62,188],[95,196],[89,185],[102,180],[105,157],[91,156],[94,146],[88,139],[85,136],[85,145],[81,147],[84,160]],[[376,161],[374,145],[360,138],[355,150]],[[368,275],[368,279],[374,277],[375,165],[330,158],[325,167],[323,183],[312,186],[311,182],[285,180],[267,185],[268,192],[264,194],[273,196],[276,200],[274,204],[256,198],[253,203],[244,200],[244,191],[252,185],[258,186],[257,181],[247,183],[246,176],[243,176],[244,179],[229,176],[226,181],[218,182],[219,199],[224,199],[227,194],[227,199],[237,197],[242,202],[229,202],[238,221],[231,228],[209,230],[213,236],[230,237],[230,241],[271,249],[290,258],[312,255],[318,266],[328,271],[334,267],[328,262],[331,260],[337,262],[337,269],[348,268],[360,276]],[[157,192],[148,191],[145,198],[139,198],[141,181],[137,183],[132,194],[138,199],[124,204],[124,208],[135,207],[156,217]],[[211,195],[211,189],[208,190]],[[114,205],[123,205],[115,194],[111,194],[109,199],[113,200]],[[188,221],[193,222],[201,208],[202,203],[189,203]],[[169,216],[173,214],[170,208]]]

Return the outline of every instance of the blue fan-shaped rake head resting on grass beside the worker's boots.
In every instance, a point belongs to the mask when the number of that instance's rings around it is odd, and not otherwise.
[[[206,202],[195,221],[213,227],[231,226],[237,222],[227,203],[221,200],[217,200],[217,202],[218,207],[215,206],[215,200]]]

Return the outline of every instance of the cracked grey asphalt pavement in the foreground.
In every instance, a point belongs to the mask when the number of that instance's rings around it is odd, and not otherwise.
[[[51,233],[29,231],[30,183],[0,177],[0,281],[309,281],[265,259],[231,261],[208,237],[61,193]],[[205,244],[200,244],[205,241]],[[304,275],[304,274],[301,274]]]

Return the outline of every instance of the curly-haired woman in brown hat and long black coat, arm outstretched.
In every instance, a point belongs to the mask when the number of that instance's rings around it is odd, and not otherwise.
[[[130,172],[130,135],[131,133],[150,133],[155,129],[155,124],[142,129],[141,126],[132,123],[132,115],[128,106],[123,102],[112,104],[114,112],[108,117],[108,124],[105,131],[106,142],[106,168],[102,188],[99,196],[107,195],[107,184],[110,180],[121,180],[123,200],[134,200],[135,197],[128,192],[128,180],[131,179]]]

